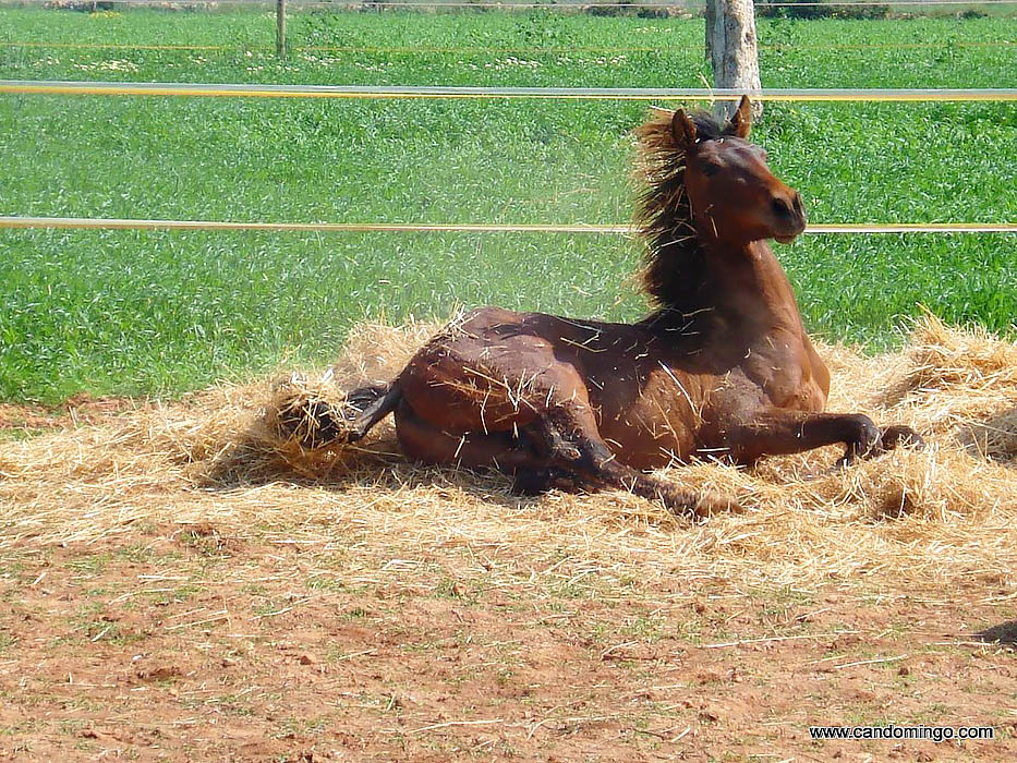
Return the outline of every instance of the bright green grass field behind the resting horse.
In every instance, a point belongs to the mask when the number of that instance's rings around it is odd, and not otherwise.
[[[707,72],[694,20],[306,13],[290,31],[280,63],[268,12],[0,9],[0,78],[697,87]],[[1004,87],[1017,73],[1012,17],[761,21],[760,39],[764,86]],[[909,47],[849,47],[869,44]],[[625,222],[644,110],[5,95],[0,214]],[[773,104],[755,138],[816,223],[1017,218],[1013,104]],[[1015,245],[804,237],[778,255],[812,331],[876,349],[919,304],[1010,331]],[[639,256],[619,237],[3,231],[0,399],[174,395],[326,363],[365,317],[460,304],[629,319],[644,308],[625,282]]]

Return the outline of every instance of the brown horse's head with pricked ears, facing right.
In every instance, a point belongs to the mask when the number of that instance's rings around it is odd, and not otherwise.
[[[685,187],[700,235],[742,244],[760,239],[789,243],[806,228],[801,196],[766,166],[749,143],[752,110],[744,96],[719,133],[679,109],[671,132],[686,155]]]

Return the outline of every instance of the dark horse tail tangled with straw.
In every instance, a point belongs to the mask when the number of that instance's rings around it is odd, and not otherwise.
[[[396,383],[367,385],[347,392],[339,404],[315,395],[299,395],[278,405],[281,434],[305,448],[355,443],[396,410],[402,390]]]

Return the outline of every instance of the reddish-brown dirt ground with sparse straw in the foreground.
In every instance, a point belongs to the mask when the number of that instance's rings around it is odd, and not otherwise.
[[[644,584],[568,557],[530,569],[511,547],[374,550],[373,572],[354,577],[341,544],[168,524],[5,552],[2,754],[1017,755],[1013,647],[977,635],[1014,617],[1015,596],[985,581],[743,591],[710,578]],[[995,740],[809,738],[810,725],[887,723],[991,725]]]

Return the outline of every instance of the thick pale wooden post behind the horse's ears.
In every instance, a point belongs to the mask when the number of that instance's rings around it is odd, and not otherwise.
[[[752,0],[706,0],[706,56],[713,66],[713,86],[759,90],[759,47]],[[719,101],[718,117],[729,118],[738,101]],[[753,101],[753,116],[762,113]]]

